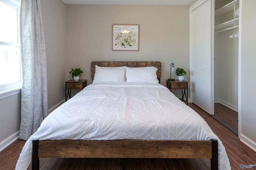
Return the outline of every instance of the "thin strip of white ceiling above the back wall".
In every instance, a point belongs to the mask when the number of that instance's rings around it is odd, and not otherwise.
[[[62,0],[65,4],[190,5],[194,0]]]

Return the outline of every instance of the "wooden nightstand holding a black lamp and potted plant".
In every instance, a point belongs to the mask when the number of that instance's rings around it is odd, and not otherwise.
[[[172,91],[172,90],[182,90],[182,98],[180,99],[184,103],[187,103],[188,105],[188,81],[168,81],[166,80],[166,87]],[[183,91],[184,90],[184,91]],[[184,99],[184,96],[186,99]]]

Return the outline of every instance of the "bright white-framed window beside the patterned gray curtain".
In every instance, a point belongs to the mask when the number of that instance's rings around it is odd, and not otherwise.
[[[20,2],[0,0],[0,94],[21,88]]]

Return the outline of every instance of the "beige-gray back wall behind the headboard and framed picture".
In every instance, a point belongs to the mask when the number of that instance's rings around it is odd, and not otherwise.
[[[161,61],[163,85],[170,63],[189,75],[189,6],[67,5],[66,22],[66,80],[80,67],[91,83],[92,61]],[[140,51],[112,51],[112,24],[140,24]]]

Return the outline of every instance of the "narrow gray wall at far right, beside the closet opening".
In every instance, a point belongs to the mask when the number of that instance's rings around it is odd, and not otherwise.
[[[256,1],[242,0],[240,138],[256,151]]]

